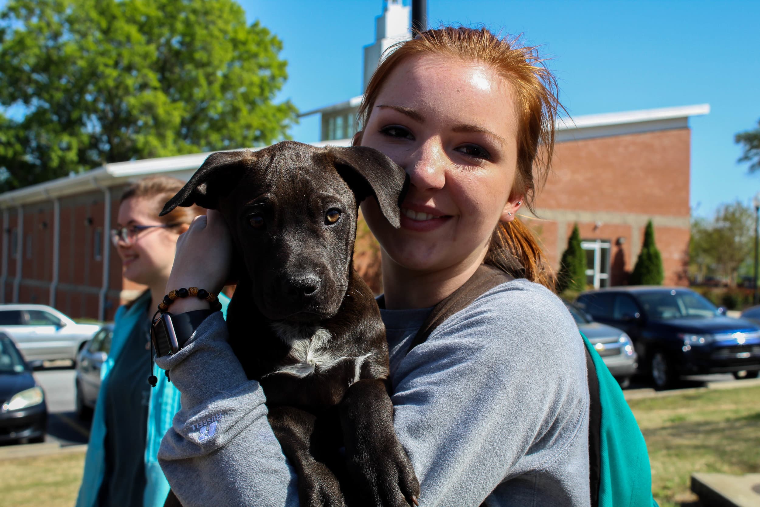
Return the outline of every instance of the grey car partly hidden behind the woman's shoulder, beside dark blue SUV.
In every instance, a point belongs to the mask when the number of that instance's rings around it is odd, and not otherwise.
[[[572,303],[565,304],[570,310],[570,315],[575,319],[578,330],[594,345],[620,387],[627,388],[631,383],[631,376],[635,375],[638,368],[638,354],[631,338],[625,334],[625,331],[613,328],[611,325],[594,322],[591,315],[578,306]]]

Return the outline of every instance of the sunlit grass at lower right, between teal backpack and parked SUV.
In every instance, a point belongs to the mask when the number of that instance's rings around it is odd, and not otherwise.
[[[760,387],[631,400],[660,507],[693,502],[693,472],[760,472]]]

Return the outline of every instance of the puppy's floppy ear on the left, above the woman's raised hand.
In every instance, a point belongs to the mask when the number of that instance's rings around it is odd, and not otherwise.
[[[209,155],[182,190],[166,202],[159,216],[163,217],[177,206],[193,204],[209,210],[218,209],[220,198],[232,192],[255,159],[255,152],[249,150],[220,151]]]

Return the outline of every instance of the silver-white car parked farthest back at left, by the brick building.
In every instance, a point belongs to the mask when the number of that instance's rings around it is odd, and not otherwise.
[[[13,337],[28,363],[74,360],[100,325],[77,324],[45,305],[0,305],[0,331]]]

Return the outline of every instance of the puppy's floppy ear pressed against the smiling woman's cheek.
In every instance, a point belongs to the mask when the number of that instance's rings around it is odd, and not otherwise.
[[[399,206],[409,189],[409,176],[397,163],[366,146],[330,147],[340,177],[356,195],[356,204],[374,195],[393,227],[401,227]]]

